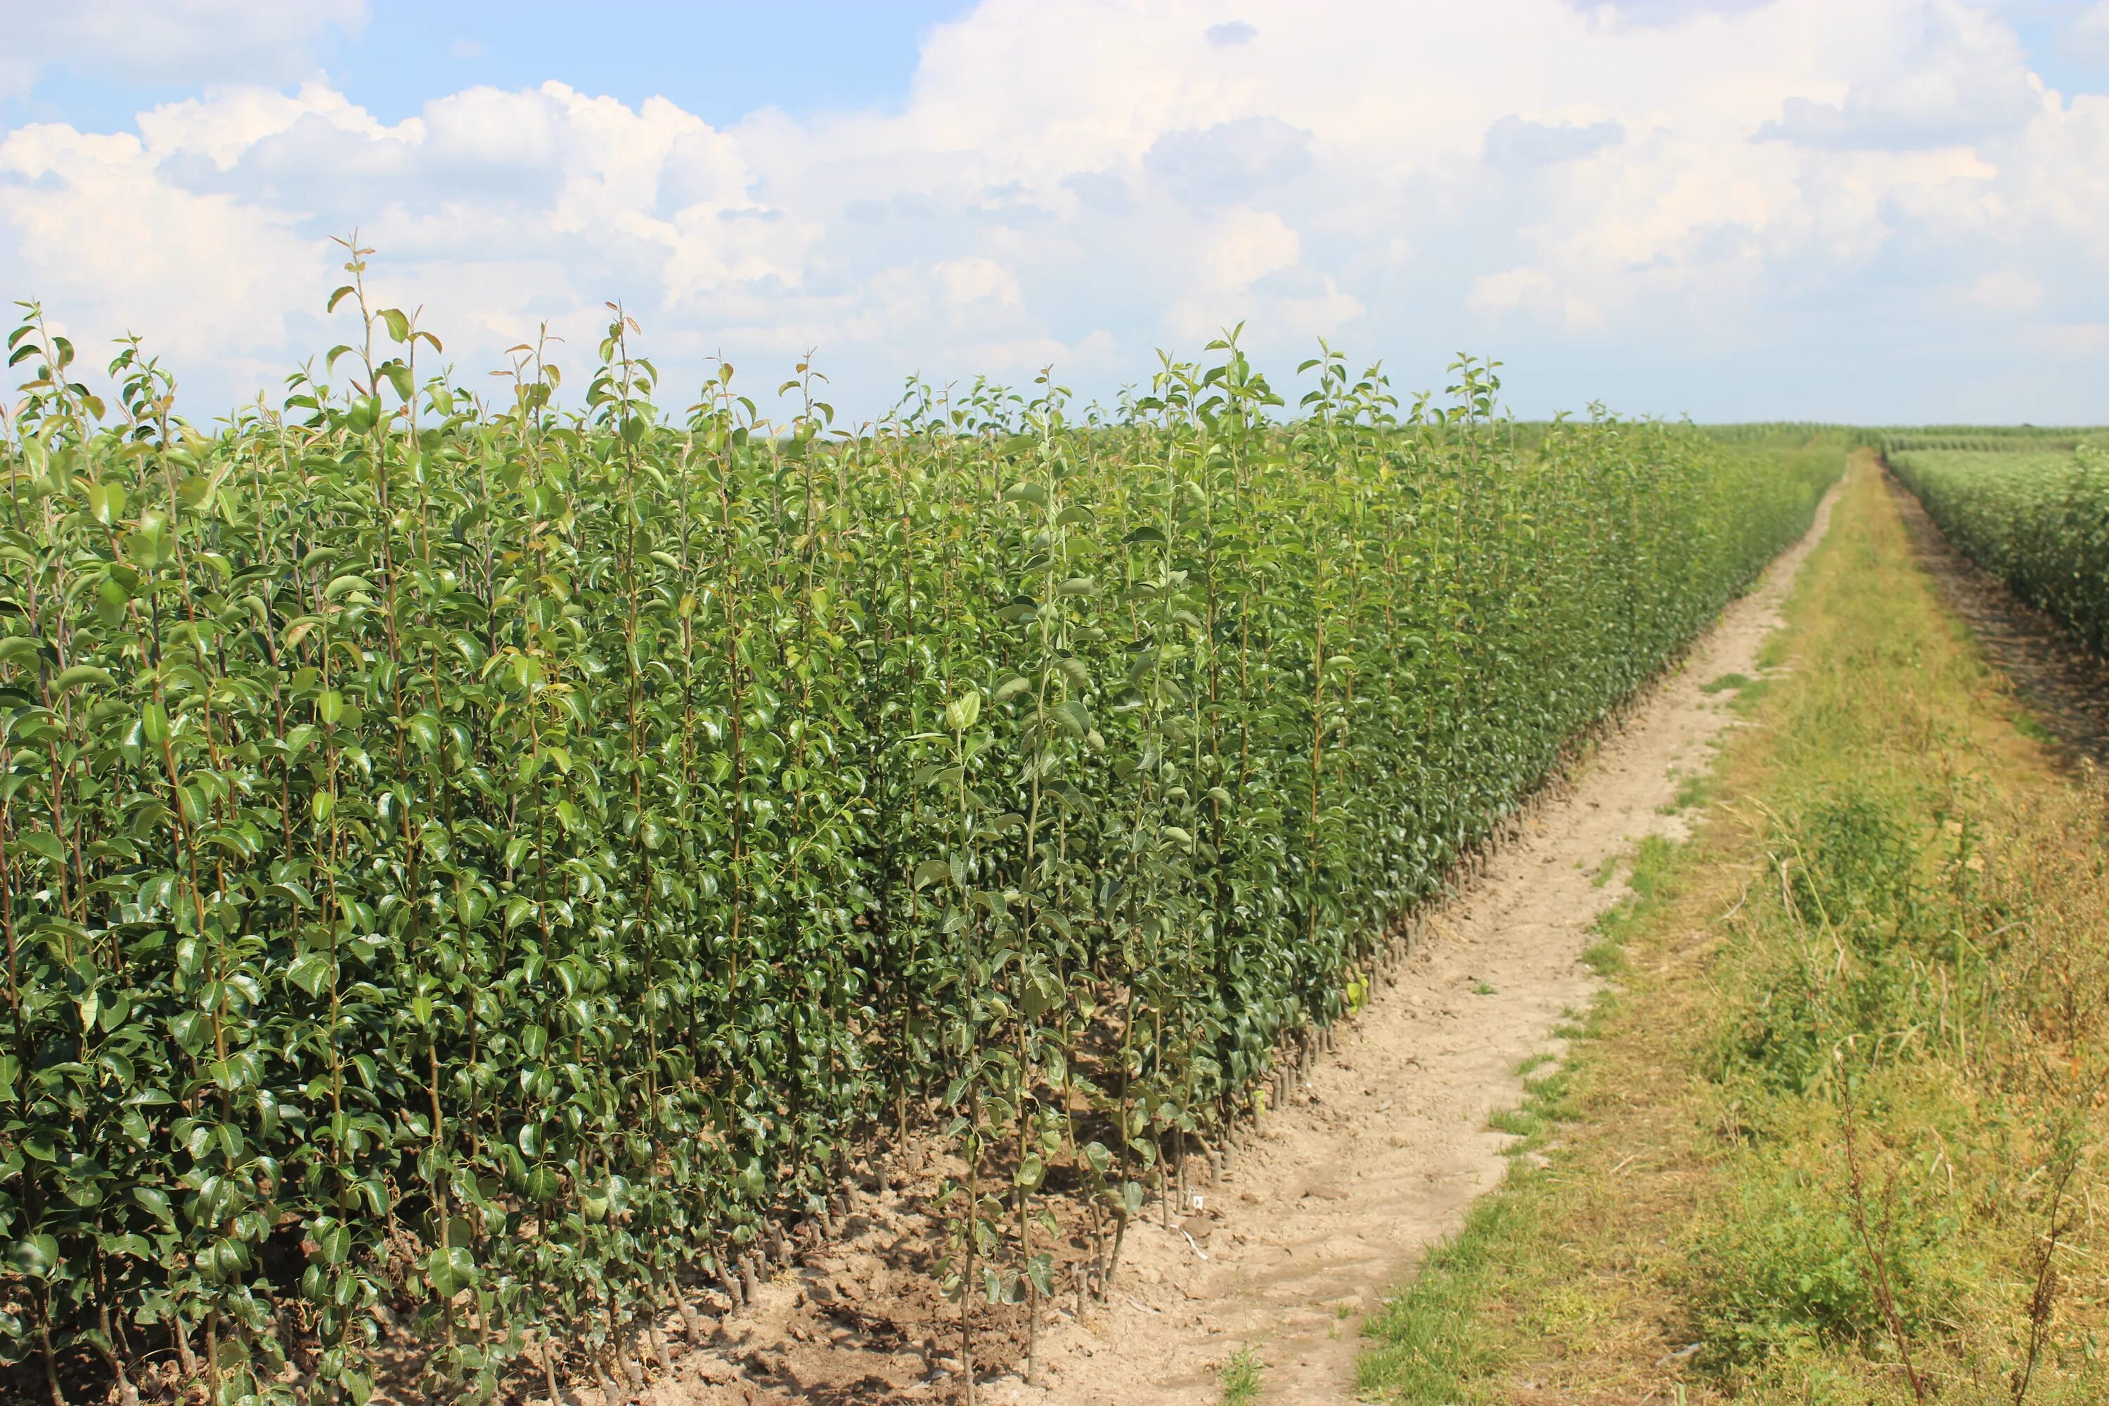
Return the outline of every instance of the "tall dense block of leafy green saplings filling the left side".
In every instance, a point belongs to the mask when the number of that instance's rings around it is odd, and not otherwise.
[[[1518,455],[1470,363],[1400,415],[1329,354],[1284,424],[1234,344],[1111,424],[913,386],[829,434],[806,367],[774,430],[730,367],[669,424],[620,314],[582,413],[527,350],[483,409],[340,299],[350,375],[213,436],[137,346],[105,415],[11,339],[32,1370],[283,1400],[291,1351],[361,1398],[390,1303],[489,1391],[932,1102],[949,1286],[1038,1301],[1048,1168],[1133,1214],[1833,470],[1618,419]]]

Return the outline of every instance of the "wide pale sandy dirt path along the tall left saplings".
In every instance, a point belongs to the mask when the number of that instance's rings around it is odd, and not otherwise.
[[[1647,835],[1683,833],[1666,812],[1736,721],[1731,694],[1700,685],[1759,675],[1759,645],[1829,516],[1831,500],[1571,788],[1434,915],[1419,955],[1265,1119],[1202,1212],[1183,1231],[1130,1229],[1111,1303],[1048,1334],[1044,1385],[1006,1379],[983,1400],[1215,1406],[1221,1364],[1246,1345],[1265,1362],[1265,1402],[1354,1398],[1362,1315],[1502,1178],[1510,1138],[1487,1117],[1518,1102],[1518,1062],[1556,1054],[1563,1012],[1597,989],[1582,951],[1624,892],[1599,881],[1601,866]]]

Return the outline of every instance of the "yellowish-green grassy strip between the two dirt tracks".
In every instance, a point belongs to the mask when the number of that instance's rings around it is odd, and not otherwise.
[[[1386,1402],[2098,1402],[2105,807],[1869,462],[1504,1187],[1371,1322]]]

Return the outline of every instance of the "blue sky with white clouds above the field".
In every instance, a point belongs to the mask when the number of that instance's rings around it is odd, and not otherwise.
[[[2109,0],[0,0],[0,295],[209,424],[607,301],[671,411],[1082,398],[1240,325],[1529,417],[2109,422]]]

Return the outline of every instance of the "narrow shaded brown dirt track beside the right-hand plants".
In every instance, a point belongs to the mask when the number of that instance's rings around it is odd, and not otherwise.
[[[2109,765],[2109,666],[2058,622],[2031,609],[1974,561],[1957,552],[1911,489],[1885,474],[1919,565],[1940,586],[1949,609],[1976,634],[1985,658],[2029,700],[2035,721],[2073,753]]]

